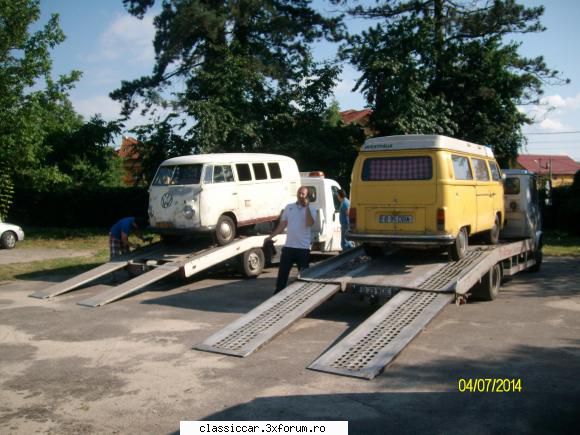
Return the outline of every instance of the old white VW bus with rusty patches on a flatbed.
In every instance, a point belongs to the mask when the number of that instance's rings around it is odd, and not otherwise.
[[[165,236],[214,233],[220,245],[240,227],[275,221],[296,200],[300,173],[275,154],[199,154],[165,160],[149,188],[151,229]]]

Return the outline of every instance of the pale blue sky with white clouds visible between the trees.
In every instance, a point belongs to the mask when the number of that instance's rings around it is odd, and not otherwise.
[[[158,2],[159,3],[159,2]],[[533,116],[535,123],[524,128],[528,145],[524,154],[566,154],[580,161],[580,2],[577,0],[520,0],[526,6],[545,6],[543,33],[520,36],[520,53],[526,57],[544,56],[548,67],[561,71],[571,83],[545,86],[541,104],[522,108]],[[109,98],[122,80],[148,75],[154,65],[152,40],[155,34],[153,15],[143,20],[131,16],[122,0],[40,0],[42,17],[58,13],[67,39],[53,49],[53,74],[65,74],[73,69],[83,72],[71,92],[75,109],[90,118],[100,113],[106,120],[119,116],[120,104]],[[325,6],[330,10],[330,6]],[[359,28],[347,21],[350,29]],[[333,48],[320,45],[317,57],[331,58]],[[334,97],[341,110],[362,109],[362,95],[352,92],[358,73],[345,65]],[[138,115],[127,124],[142,121]]]

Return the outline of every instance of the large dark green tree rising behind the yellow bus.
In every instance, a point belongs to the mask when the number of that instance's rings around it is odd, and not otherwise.
[[[339,3],[339,2],[338,2]],[[514,0],[382,0],[350,13],[380,19],[355,35],[343,57],[359,69],[356,88],[380,134],[439,133],[492,145],[504,163],[524,143],[545,83],[562,83],[541,56],[524,58],[510,34],[540,32],[543,7]]]

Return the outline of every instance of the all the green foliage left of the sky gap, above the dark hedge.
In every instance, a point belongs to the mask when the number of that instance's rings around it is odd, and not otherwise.
[[[69,92],[71,71],[52,77],[50,51],[64,41],[58,15],[35,32],[38,0],[0,0],[0,167],[16,187],[118,184],[121,162],[108,146],[117,123],[85,123]]]

